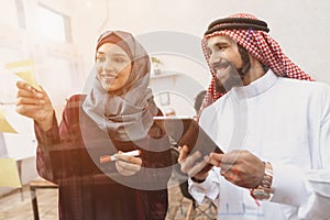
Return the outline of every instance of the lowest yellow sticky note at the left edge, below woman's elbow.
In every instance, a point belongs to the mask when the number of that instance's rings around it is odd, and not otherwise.
[[[22,187],[14,158],[0,158],[0,187]]]

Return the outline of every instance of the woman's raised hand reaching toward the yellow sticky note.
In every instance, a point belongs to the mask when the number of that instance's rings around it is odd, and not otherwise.
[[[18,81],[16,112],[33,119],[46,131],[52,128],[54,109],[47,94],[34,89],[25,81]]]

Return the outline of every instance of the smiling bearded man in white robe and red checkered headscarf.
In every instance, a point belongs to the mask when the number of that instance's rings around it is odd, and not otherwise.
[[[330,88],[268,31],[242,13],[209,25],[202,47],[213,77],[199,123],[226,153],[196,162],[202,155],[185,145],[178,161],[190,194],[211,199],[218,219],[327,219]],[[206,163],[213,167],[201,170]]]

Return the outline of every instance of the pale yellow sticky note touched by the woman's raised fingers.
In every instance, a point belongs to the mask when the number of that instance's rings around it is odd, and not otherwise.
[[[6,68],[11,69],[16,76],[30,84],[36,90],[42,90],[35,78],[34,64],[32,59],[8,63],[6,64]]]

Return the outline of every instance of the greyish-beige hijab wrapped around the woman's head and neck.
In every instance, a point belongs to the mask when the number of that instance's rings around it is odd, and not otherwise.
[[[118,37],[122,41],[113,42]],[[158,112],[152,90],[147,88],[150,58],[130,33],[108,31],[100,36],[97,48],[107,42],[121,46],[132,57],[130,77],[122,89],[110,94],[100,85],[94,68],[92,86],[87,92],[82,109],[111,139],[141,140],[146,136],[153,124],[153,117]]]

